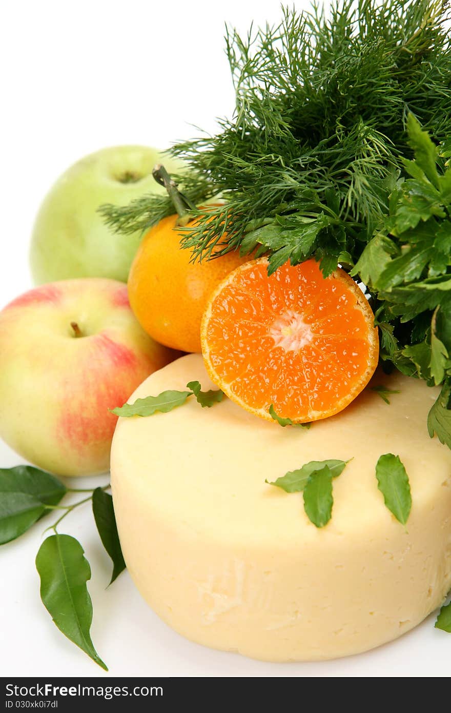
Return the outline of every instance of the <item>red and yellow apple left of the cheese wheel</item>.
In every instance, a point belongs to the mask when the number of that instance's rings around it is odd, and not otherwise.
[[[117,421],[108,409],[175,356],[142,330],[121,282],[31,289],[0,312],[0,436],[46,471],[102,473]]]

